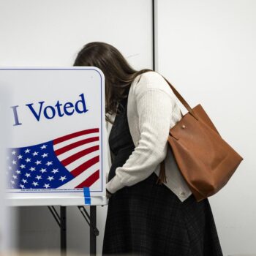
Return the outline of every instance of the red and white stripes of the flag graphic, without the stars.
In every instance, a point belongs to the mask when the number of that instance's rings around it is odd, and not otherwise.
[[[53,140],[53,149],[75,177],[59,189],[90,187],[99,179],[99,128],[85,129]]]

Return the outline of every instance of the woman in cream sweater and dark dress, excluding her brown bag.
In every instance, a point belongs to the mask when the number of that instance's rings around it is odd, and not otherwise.
[[[222,255],[208,199],[197,203],[167,146],[181,111],[165,79],[132,69],[104,42],[85,45],[74,66],[105,75],[111,167],[102,255]]]

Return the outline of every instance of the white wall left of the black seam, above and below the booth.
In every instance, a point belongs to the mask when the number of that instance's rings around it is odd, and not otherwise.
[[[151,1],[0,0],[0,67],[72,66],[87,42],[108,42],[135,69],[152,68]],[[108,206],[97,206],[97,252]],[[89,207],[86,206],[89,211]],[[18,210],[18,248],[59,248],[59,227],[47,207]],[[67,208],[68,252],[89,253],[89,227]]]

